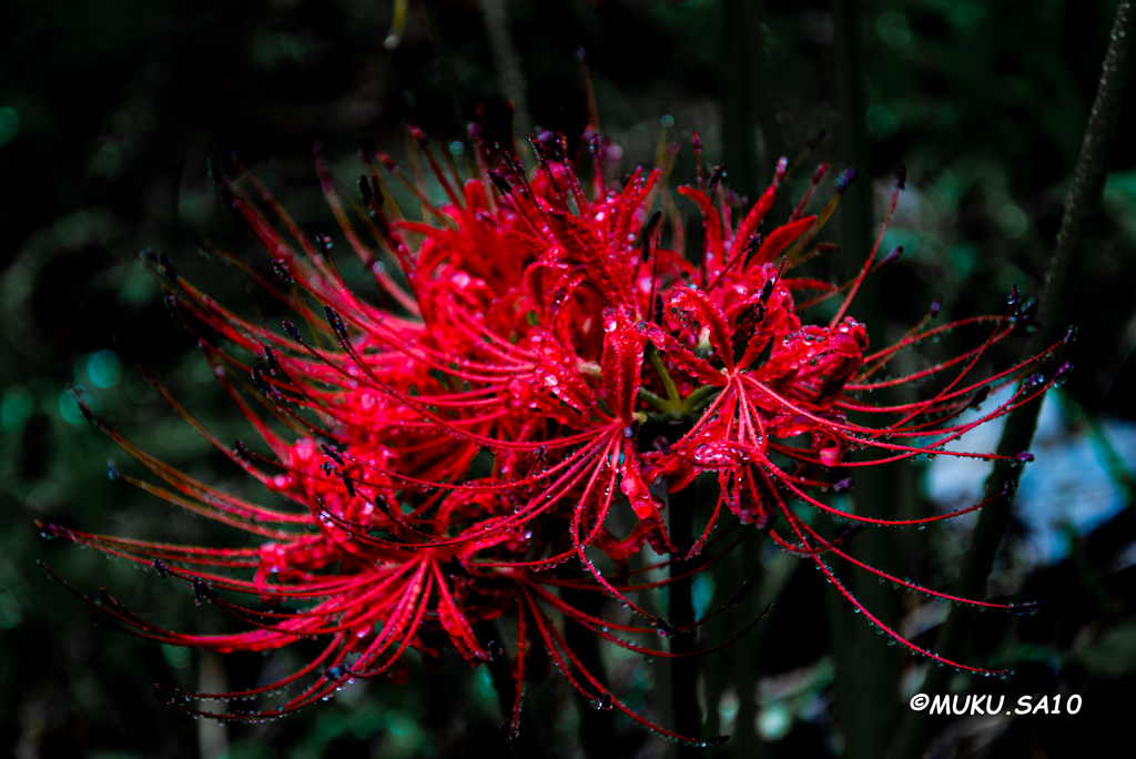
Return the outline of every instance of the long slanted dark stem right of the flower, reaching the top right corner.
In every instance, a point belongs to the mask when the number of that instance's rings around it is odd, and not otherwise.
[[[1072,184],[1066,199],[1061,230],[1058,232],[1053,258],[1050,260],[1050,267],[1042,285],[1038,308],[1043,326],[1037,331],[1034,344],[1055,342],[1061,332],[1064,331],[1067,319],[1072,314],[1072,302],[1077,294],[1077,273],[1083,265],[1086,252],[1087,230],[1089,222],[1096,214],[1104,190],[1109,155],[1112,151],[1125,90],[1131,73],[1129,39],[1134,33],[1133,16],[1131,1],[1121,0],[1117,7],[1109,50],[1104,56],[1096,99],[1088,117],[1080,156],[1077,159]],[[1037,427],[1037,415],[1041,408],[1042,400],[1037,399],[1010,415],[1005,429],[1002,432],[1002,440],[999,442],[999,453],[1014,454],[1029,448]],[[1021,467],[1012,467],[1004,461],[995,462],[991,476],[986,481],[986,495],[999,493],[1006,483],[1011,487],[1008,489],[1008,494],[1004,498],[992,502],[979,515],[970,550],[967,551],[963,564],[959,594],[968,598],[985,598],[986,579],[994,567],[994,558],[1010,522],[1013,492],[1020,477]],[[974,619],[969,614],[961,608],[953,609],[939,634],[938,652],[944,657],[954,658],[957,651],[964,644]],[[946,670],[932,668],[924,691],[939,693],[944,691],[945,686]],[[896,756],[921,756],[929,739],[929,720],[926,718],[909,718],[905,729],[900,735]]]

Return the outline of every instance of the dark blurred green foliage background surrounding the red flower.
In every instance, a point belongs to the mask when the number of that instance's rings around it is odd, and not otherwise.
[[[508,756],[492,685],[456,662],[435,675],[416,664],[403,687],[356,686],[281,723],[199,728],[158,704],[152,684],[240,687],[306,652],[186,656],[127,639],[92,626],[91,610],[34,565],[43,559],[89,593],[106,585],[175,629],[225,624],[215,609],[195,608],[187,591],[45,543],[32,527],[51,519],[151,540],[232,540],[110,482],[105,461],[126,457],[82,424],[64,395],[68,382],[145,450],[260,497],[131,368],[135,359],[153,367],[222,437],[249,434],[136,264],[137,251],[152,247],[223,302],[254,298],[236,269],[198,252],[202,239],[251,252],[214,194],[209,156],[236,151],[309,232],[334,235],[311,162],[317,139],[350,181],[360,148],[406,156],[406,123],[461,140],[479,105],[500,123],[507,97],[519,125],[577,135],[587,114],[583,47],[601,128],[623,147],[624,170],[653,161],[669,116],[669,139],[684,149],[671,183],[693,181],[696,130],[709,162],[725,161],[727,182],[752,199],[778,156],[792,158],[825,132],[792,185],[794,200],[819,160],[857,165],[861,176],[826,232],[842,250],[816,262],[817,276],[855,270],[888,177],[904,162],[910,191],[887,244],[907,253],[853,309],[882,345],[937,294],[947,316],[961,317],[1000,311],[1011,285],[1037,293],[1114,8],[1092,0],[410,0],[392,44],[396,14],[386,0],[0,6],[0,750],[28,758]],[[1077,370],[1060,393],[1070,436],[1136,419],[1133,101],[1075,267],[1077,297],[1066,305],[1080,328]],[[693,207],[683,209],[693,217]],[[991,358],[1004,366],[1013,356]],[[1113,453],[1103,444],[1097,456],[1118,498],[1131,501],[1133,461]],[[868,482],[855,498],[877,493],[929,509],[919,487],[926,466],[896,475],[895,491]],[[1019,499],[1019,509],[1029,506]],[[1038,600],[1042,610],[987,615],[975,636],[971,659],[1009,661],[1014,677],[952,683],[1011,701],[1079,693],[1080,714],[921,716],[932,720],[933,756],[1064,757],[1127,732],[1136,703],[1136,568],[1118,557],[1136,540],[1136,520],[1119,506],[1092,529],[1069,525],[1067,550],[1050,561],[1028,560],[1024,528],[1011,524],[992,594]],[[949,527],[888,531],[863,550],[896,574],[943,586],[958,576],[966,540]],[[735,735],[708,756],[883,756],[911,718],[907,700],[926,665],[849,632],[851,612],[810,565],[763,554],[755,537],[743,548],[746,556],[716,568],[699,592],[717,587],[720,602],[738,576],[753,575],[750,607],[777,604],[755,633],[703,662],[705,735]],[[891,589],[878,591],[877,603],[895,624],[919,614],[918,599]],[[727,619],[705,642],[741,620]],[[917,629],[932,644],[934,624]],[[618,692],[674,724],[660,664],[608,664]],[[529,694],[548,756],[582,756],[586,706],[556,678]],[[618,720],[612,729],[612,756],[674,751]]]

